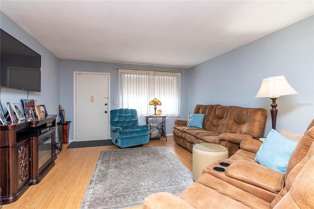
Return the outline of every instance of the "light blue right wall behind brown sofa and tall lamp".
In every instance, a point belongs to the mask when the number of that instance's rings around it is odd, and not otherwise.
[[[303,133],[314,118],[313,31],[312,16],[191,68],[189,111],[196,104],[262,107],[267,134],[272,102],[255,96],[263,78],[284,75],[299,94],[277,99],[276,130]]]

